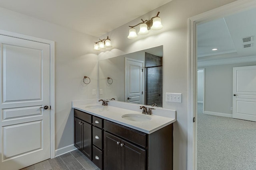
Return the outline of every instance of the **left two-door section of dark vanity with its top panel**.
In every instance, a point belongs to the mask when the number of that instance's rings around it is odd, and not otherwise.
[[[92,160],[91,115],[74,110],[74,146]]]

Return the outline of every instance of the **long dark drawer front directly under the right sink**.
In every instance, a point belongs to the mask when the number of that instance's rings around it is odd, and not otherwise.
[[[134,129],[130,129],[128,127],[124,127],[122,125],[118,125],[107,120],[104,120],[104,130],[118,135],[119,137],[122,137],[128,141],[136,143],[137,145],[140,145],[142,147],[147,147],[147,135],[145,133],[141,133]]]

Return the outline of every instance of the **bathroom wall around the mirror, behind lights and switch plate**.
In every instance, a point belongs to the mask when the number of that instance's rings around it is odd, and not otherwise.
[[[188,18],[233,1],[173,0],[107,33],[114,49],[99,54],[99,58],[109,58],[163,45],[163,92],[182,93],[182,103],[163,102],[164,108],[177,110],[177,121],[174,123],[174,170],[187,169]],[[150,30],[148,35],[138,35],[137,39],[127,38],[128,25],[136,25],[141,18],[148,20],[158,11],[164,25],[162,30]]]

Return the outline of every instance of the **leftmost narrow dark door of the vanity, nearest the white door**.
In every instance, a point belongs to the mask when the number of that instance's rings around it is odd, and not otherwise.
[[[78,150],[82,150],[82,127],[81,120],[74,117],[74,145]]]

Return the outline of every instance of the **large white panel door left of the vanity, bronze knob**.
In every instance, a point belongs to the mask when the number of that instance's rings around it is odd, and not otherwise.
[[[50,158],[50,45],[0,35],[0,169]]]

